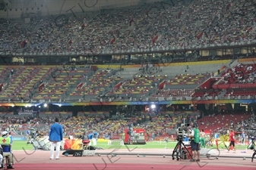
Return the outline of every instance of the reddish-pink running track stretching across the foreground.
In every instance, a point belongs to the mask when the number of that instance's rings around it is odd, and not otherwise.
[[[239,153],[238,153],[239,154]],[[176,161],[170,156],[61,156],[60,159],[50,160],[49,151],[37,150],[35,153],[14,152],[15,169],[19,170],[146,170],[146,169],[174,169],[174,170],[256,170],[256,159],[243,160],[241,158],[201,158],[201,162],[189,160]]]

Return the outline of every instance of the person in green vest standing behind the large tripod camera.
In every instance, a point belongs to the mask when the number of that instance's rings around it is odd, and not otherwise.
[[[191,131],[191,148],[193,151],[193,159],[191,161],[198,161],[200,162],[200,131],[198,129],[198,124],[194,124],[194,128]],[[196,159],[196,156],[198,155],[198,159]]]

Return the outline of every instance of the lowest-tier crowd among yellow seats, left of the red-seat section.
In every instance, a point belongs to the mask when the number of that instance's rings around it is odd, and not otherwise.
[[[56,115],[58,116],[58,115]],[[145,128],[148,135],[154,137],[166,134],[168,128],[175,123],[182,122],[184,116],[147,115],[133,116],[129,119],[109,119],[105,114],[96,116],[58,116],[64,128],[65,136],[77,135],[85,132],[97,131],[100,138],[120,137],[125,128],[132,125],[134,128]],[[38,128],[41,134],[49,133],[49,125],[54,122],[55,116],[5,116],[1,119],[1,128],[8,131],[27,130],[27,128]],[[146,120],[147,119],[147,120]],[[157,128],[156,128],[157,126]]]

